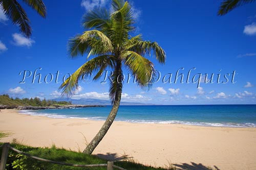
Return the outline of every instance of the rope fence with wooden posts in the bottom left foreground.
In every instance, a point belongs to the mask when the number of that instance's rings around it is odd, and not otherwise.
[[[65,166],[74,166],[74,167],[100,167],[100,166],[102,167],[102,166],[106,166],[107,170],[113,170],[113,167],[117,168],[117,169],[120,169],[120,170],[126,170],[122,167],[114,165],[113,161],[108,161],[108,163],[101,163],[101,164],[73,164],[73,163],[58,162],[58,161],[52,161],[52,160],[48,160],[48,159],[44,159],[44,158],[39,158],[37,156],[30,155],[28,153],[19,151],[15,148],[11,147],[10,143],[4,143],[3,145],[0,145],[0,148],[1,147],[3,147],[3,152],[2,152],[2,157],[1,157],[0,170],[5,170],[9,149],[11,149],[14,152],[17,152],[18,154],[22,154],[22,155],[28,156],[30,158],[33,158],[33,159],[36,159],[36,160],[39,160],[39,161],[49,162],[49,163],[52,163],[52,164],[65,165]]]

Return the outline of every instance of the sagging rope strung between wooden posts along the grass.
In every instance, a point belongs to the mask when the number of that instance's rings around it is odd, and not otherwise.
[[[3,145],[0,145],[0,147],[3,147]],[[33,155],[30,155],[28,153],[25,153],[25,152],[22,152],[22,151],[19,151],[15,148],[12,148],[10,145],[8,146],[11,150],[19,153],[19,154],[22,154],[22,155],[26,155],[30,158],[34,158],[34,159],[37,159],[37,160],[40,160],[40,161],[45,161],[45,162],[49,162],[49,163],[53,163],[53,164],[58,164],[58,165],[66,165],[66,166],[75,166],[75,167],[99,167],[99,166],[107,166],[106,163],[101,163],[101,164],[73,164],[73,163],[65,163],[65,162],[57,162],[57,161],[52,161],[52,160],[48,160],[48,159],[44,159],[44,158],[39,158],[37,156],[33,156]],[[126,170],[122,167],[119,167],[119,166],[116,166],[116,165],[113,165],[113,167],[115,168],[118,168],[120,170]]]

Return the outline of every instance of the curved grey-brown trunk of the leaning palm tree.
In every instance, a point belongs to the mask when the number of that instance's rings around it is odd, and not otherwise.
[[[117,75],[122,74],[121,63],[117,64],[117,73],[118,73]],[[83,150],[84,154],[90,154],[91,155],[93,153],[94,149],[97,147],[99,142],[102,140],[102,138],[105,136],[106,132],[108,132],[110,126],[114,122],[114,119],[116,117],[116,114],[117,114],[117,111],[118,111],[118,108],[119,108],[119,105],[120,105],[121,94],[122,94],[122,83],[121,83],[121,81],[119,81],[119,82],[120,83],[117,82],[115,100],[114,100],[114,103],[113,103],[113,107],[110,111],[110,114],[109,114],[108,118],[106,118],[105,123],[103,124],[103,126],[101,127],[101,129],[99,130],[97,135],[87,145],[86,149]]]

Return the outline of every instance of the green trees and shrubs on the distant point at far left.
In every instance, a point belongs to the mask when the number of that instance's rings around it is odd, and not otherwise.
[[[39,98],[10,98],[8,94],[0,95],[0,105],[9,105],[9,106],[54,106],[54,105],[71,105],[71,102],[66,101],[54,101],[54,100],[40,100]]]

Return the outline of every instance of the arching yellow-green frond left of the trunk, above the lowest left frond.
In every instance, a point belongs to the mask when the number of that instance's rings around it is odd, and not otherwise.
[[[84,53],[90,53],[90,55],[108,53],[112,51],[113,47],[111,40],[102,32],[90,30],[71,38],[68,48],[71,57],[76,57]]]

